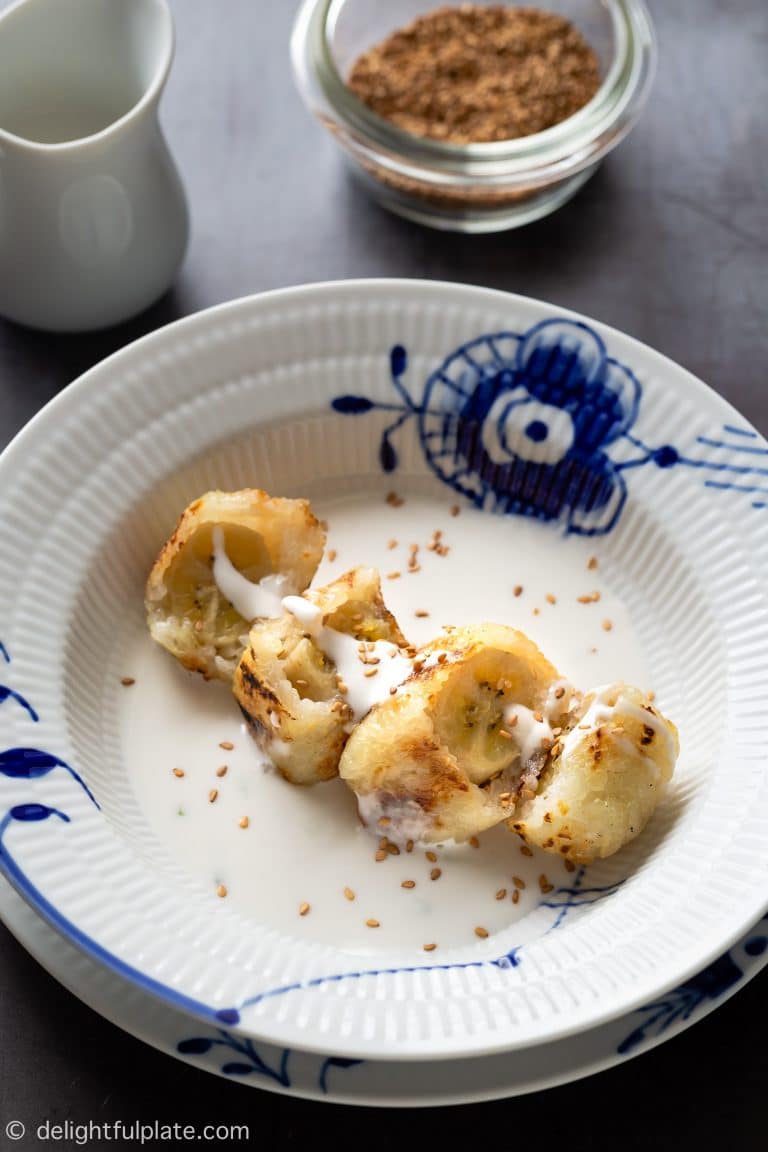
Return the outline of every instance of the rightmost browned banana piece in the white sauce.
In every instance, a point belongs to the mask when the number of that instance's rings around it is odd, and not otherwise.
[[[596,689],[557,740],[535,796],[523,799],[510,827],[576,863],[611,856],[642,832],[678,752],[675,725],[637,688]]]

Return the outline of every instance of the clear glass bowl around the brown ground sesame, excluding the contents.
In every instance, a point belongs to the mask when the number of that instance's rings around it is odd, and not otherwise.
[[[304,0],[291,56],[307,107],[341,145],[353,174],[400,215],[478,233],[554,212],[626,136],[645,104],[656,43],[644,0],[538,3],[580,29],[600,61],[602,84],[553,128],[488,144],[449,144],[403,131],[347,86],[344,77],[363,52],[438,6],[439,0]]]

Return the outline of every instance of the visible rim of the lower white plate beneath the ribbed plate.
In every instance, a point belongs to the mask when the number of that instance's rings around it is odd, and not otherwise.
[[[169,1056],[251,1087],[333,1104],[426,1107],[540,1092],[603,1071],[704,1020],[768,963],[760,922],[685,985],[628,1016],[522,1052],[471,1060],[344,1060],[253,1044],[227,1029],[191,1024],[59,935],[0,879],[0,919],[61,984],[106,1020]]]

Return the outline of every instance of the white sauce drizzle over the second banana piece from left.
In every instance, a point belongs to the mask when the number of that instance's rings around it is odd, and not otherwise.
[[[336,672],[347,685],[344,700],[352,710],[353,722],[359,722],[374,704],[387,699],[390,688],[397,688],[411,675],[411,660],[403,655],[396,644],[374,641],[366,645],[364,664],[360,659],[360,641],[345,632],[336,631],[322,623],[322,612],[303,596],[287,596],[282,606],[298,621],[318,647],[336,665]],[[378,664],[375,661],[379,661]],[[366,672],[375,675],[366,676]]]

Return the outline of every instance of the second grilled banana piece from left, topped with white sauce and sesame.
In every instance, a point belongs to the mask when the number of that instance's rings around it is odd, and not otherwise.
[[[353,568],[326,588],[289,597],[277,620],[259,621],[233,690],[259,745],[291,783],[337,775],[355,720],[411,670],[406,641],[374,568]]]

